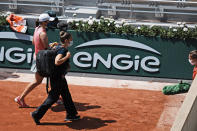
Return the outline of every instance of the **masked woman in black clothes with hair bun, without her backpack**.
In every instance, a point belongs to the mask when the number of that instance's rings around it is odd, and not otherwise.
[[[71,34],[61,31],[60,32],[60,45],[56,47],[57,55],[55,57],[55,69],[50,75],[51,90],[48,93],[47,99],[39,106],[36,111],[31,113],[34,122],[38,125],[40,120],[47,112],[47,110],[62,96],[63,104],[66,109],[65,121],[79,120],[80,116],[75,108],[71,94],[68,89],[68,84],[65,75],[68,72],[69,58],[71,57],[68,51],[68,46],[72,43]]]

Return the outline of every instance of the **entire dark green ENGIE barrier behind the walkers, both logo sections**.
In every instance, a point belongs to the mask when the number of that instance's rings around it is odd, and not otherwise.
[[[34,52],[33,29],[27,34],[0,32],[0,67],[29,69]],[[71,72],[191,79],[188,54],[197,41],[164,40],[135,35],[69,31],[74,45]],[[59,30],[48,30],[49,42]]]

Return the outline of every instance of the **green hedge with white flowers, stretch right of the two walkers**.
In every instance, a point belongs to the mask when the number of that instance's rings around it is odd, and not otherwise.
[[[90,17],[88,20],[70,19],[67,21],[71,30],[83,32],[104,32],[127,35],[143,35],[147,37],[169,38],[169,39],[197,39],[197,27],[188,28],[185,23],[177,22],[177,27],[161,26],[134,26],[125,21],[120,23],[109,18],[100,20]]]

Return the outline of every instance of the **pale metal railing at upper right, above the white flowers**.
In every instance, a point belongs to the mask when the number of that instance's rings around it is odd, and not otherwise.
[[[197,2],[185,1],[185,0],[182,1],[122,0],[116,3],[104,2],[103,0],[98,0],[97,6],[99,7],[99,10],[108,11],[108,12],[120,11],[120,12],[130,12],[131,14],[147,13],[147,14],[155,14],[155,17],[164,17],[164,14],[194,15],[194,16],[197,15]]]

